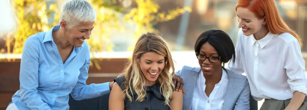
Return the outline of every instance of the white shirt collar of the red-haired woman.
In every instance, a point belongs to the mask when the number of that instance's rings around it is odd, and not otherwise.
[[[266,46],[266,44],[268,44],[273,37],[276,36],[276,34],[272,34],[271,32],[269,32],[268,34],[266,34],[266,36],[264,36],[262,39],[260,40],[256,40],[254,35],[252,35],[251,37],[251,44],[252,46],[256,43],[256,41],[259,43],[259,46],[261,48],[263,48],[264,46]]]

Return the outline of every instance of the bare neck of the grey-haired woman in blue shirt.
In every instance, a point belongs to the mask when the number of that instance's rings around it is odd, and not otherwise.
[[[66,49],[73,47],[72,44],[70,44],[66,39],[64,31],[61,28],[58,31],[52,32],[52,37],[58,49]]]

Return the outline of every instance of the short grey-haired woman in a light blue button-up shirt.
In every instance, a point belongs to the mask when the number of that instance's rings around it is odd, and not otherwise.
[[[7,110],[69,109],[69,94],[75,100],[95,98],[113,83],[86,84],[90,66],[89,39],[96,14],[90,3],[70,0],[61,9],[60,25],[39,32],[25,41],[20,89]]]

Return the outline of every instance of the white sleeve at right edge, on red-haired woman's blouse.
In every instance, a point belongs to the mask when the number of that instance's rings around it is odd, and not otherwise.
[[[284,51],[285,69],[291,92],[307,94],[305,60],[301,54],[301,48],[297,40],[290,41]]]

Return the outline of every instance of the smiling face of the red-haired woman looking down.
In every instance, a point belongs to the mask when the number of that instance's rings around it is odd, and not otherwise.
[[[263,23],[265,23],[265,17],[258,19],[255,13],[251,12],[247,8],[238,7],[237,16],[239,21],[239,28],[242,28],[243,34],[245,36],[250,36],[255,34],[264,28]]]

